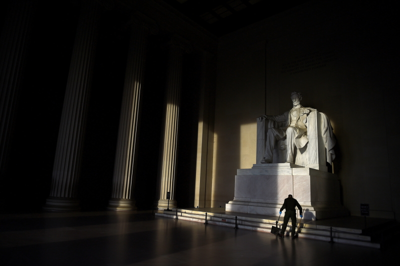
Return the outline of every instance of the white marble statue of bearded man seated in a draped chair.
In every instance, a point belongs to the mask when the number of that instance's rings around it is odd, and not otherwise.
[[[257,164],[282,163],[327,170],[334,159],[335,137],[329,118],[300,105],[300,92],[291,93],[293,107],[280,115],[257,118]]]

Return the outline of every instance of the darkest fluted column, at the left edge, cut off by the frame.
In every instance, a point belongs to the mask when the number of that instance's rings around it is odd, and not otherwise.
[[[14,0],[7,11],[0,37],[0,173],[5,166],[15,102],[24,72],[33,4],[30,0]]]

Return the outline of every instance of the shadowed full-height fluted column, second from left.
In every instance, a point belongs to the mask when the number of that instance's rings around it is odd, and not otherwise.
[[[46,210],[69,211],[80,208],[77,183],[99,15],[97,0],[81,2],[58,130],[51,190],[43,205]]]

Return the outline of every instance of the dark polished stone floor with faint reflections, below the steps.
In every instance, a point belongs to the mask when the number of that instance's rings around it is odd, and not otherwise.
[[[0,265],[394,265],[399,247],[280,239],[151,211],[0,214]]]

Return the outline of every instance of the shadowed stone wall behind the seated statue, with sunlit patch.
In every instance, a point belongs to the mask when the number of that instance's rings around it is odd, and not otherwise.
[[[296,90],[331,120],[333,171],[351,215],[360,203],[371,216],[398,213],[398,52],[394,14],[383,11],[310,1],[218,39],[211,206],[233,198],[236,168],[255,163],[256,117],[289,110]]]

